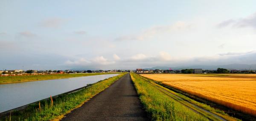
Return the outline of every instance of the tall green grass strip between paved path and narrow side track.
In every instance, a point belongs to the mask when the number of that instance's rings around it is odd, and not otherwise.
[[[202,115],[173,100],[148,82],[131,73],[132,81],[151,120],[157,121],[207,121]]]

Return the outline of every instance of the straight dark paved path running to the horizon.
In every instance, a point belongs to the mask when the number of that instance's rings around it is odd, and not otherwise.
[[[62,120],[149,120],[142,108],[128,73]]]

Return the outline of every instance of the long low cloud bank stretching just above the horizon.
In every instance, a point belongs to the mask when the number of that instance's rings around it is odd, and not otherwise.
[[[164,55],[164,56],[163,56]],[[167,56],[166,56],[167,55]],[[95,61],[95,59],[97,61]],[[193,66],[193,65],[227,65],[233,63],[240,64],[255,64],[256,51],[244,52],[244,53],[222,53],[215,56],[204,56],[195,58],[172,58],[167,52],[159,52],[155,56],[147,56],[143,54],[133,55],[128,58],[121,58],[115,60],[115,58],[106,59],[103,56],[93,59],[85,60],[80,58],[74,61],[66,61],[70,66],[76,66],[80,68],[92,68],[96,69],[136,69],[136,68],[148,68],[153,66]],[[123,66],[122,66],[123,65]],[[131,65],[129,67],[125,65]],[[111,67],[110,67],[111,66]],[[121,68],[120,68],[121,67]]]

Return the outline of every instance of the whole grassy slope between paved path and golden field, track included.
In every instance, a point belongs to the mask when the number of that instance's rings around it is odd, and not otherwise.
[[[153,120],[200,121],[210,119],[218,121],[219,117],[228,121],[238,120],[223,111],[196,102],[135,73],[131,73],[131,78],[146,112]]]

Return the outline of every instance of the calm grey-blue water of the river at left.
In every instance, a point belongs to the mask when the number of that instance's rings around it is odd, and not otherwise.
[[[59,95],[119,74],[0,84],[0,112]]]

